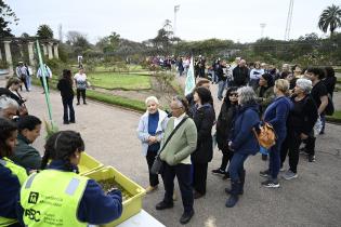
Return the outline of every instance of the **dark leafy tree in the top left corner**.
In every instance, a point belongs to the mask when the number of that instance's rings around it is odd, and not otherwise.
[[[12,11],[10,5],[5,4],[3,0],[0,0],[0,38],[1,37],[13,37],[11,34],[11,24],[17,25],[18,18]]]

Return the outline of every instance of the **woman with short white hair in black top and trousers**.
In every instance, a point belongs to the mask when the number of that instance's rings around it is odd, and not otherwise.
[[[289,152],[289,170],[283,175],[285,179],[298,177],[297,168],[300,158],[300,145],[303,139],[313,134],[313,128],[318,118],[316,104],[310,95],[311,91],[311,80],[297,80],[293,95],[291,96],[293,108],[287,121],[287,137],[280,149],[281,166]]]

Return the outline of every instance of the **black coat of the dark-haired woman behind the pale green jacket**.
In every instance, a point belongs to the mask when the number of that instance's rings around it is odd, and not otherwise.
[[[208,163],[213,158],[212,126],[215,114],[212,105],[205,104],[194,112],[193,120],[197,126],[197,149],[192,153],[192,161],[196,163]]]

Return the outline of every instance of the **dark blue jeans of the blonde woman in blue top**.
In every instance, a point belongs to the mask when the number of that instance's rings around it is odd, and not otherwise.
[[[276,144],[270,148],[270,160],[268,160],[268,171],[271,173],[272,179],[277,179],[279,169],[280,169],[280,147],[283,142],[285,141],[285,136],[280,136],[277,138]]]

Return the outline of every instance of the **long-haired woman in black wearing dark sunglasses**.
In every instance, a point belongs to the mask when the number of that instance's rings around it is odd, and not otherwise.
[[[213,174],[224,175],[224,179],[229,178],[226,171],[227,163],[231,162],[233,151],[228,149],[227,139],[232,130],[233,119],[236,115],[238,107],[237,86],[231,86],[223,101],[220,114],[217,120],[217,144],[218,148],[222,151],[223,158],[220,168],[212,170]]]

